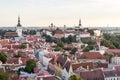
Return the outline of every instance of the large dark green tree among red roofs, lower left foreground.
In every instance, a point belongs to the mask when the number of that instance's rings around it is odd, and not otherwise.
[[[34,73],[35,67],[36,67],[35,61],[32,59],[29,59],[26,63],[25,71],[28,73]]]

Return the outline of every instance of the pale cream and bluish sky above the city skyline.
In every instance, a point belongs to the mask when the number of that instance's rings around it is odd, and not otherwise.
[[[0,0],[0,26],[120,27],[120,0]]]

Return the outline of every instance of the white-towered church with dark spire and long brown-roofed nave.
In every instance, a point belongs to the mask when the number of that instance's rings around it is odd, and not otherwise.
[[[22,37],[22,25],[20,24],[20,17],[18,16],[18,24],[16,31],[9,31],[4,34],[4,38],[15,39],[15,37]]]

